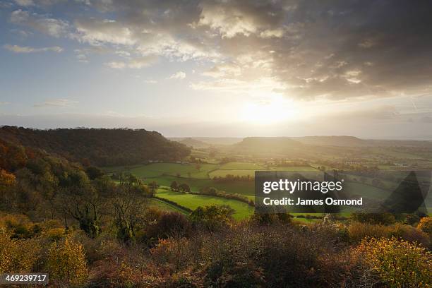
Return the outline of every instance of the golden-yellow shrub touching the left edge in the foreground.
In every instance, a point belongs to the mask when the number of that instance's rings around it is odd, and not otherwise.
[[[0,274],[32,272],[40,250],[37,239],[11,239],[11,234],[0,231]]]

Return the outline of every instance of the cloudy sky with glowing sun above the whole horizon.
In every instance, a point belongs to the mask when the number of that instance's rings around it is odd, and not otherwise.
[[[432,140],[431,1],[0,1],[0,125]]]

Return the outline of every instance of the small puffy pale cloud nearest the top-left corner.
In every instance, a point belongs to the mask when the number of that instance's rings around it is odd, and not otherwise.
[[[66,20],[47,18],[46,16],[21,9],[11,13],[11,23],[25,25],[52,37],[66,36],[71,29]]]

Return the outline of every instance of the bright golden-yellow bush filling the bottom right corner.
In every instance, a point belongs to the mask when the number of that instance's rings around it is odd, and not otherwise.
[[[388,287],[428,287],[431,285],[432,256],[409,241],[364,239],[354,254],[364,257],[365,265],[379,275]]]

